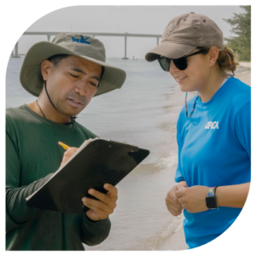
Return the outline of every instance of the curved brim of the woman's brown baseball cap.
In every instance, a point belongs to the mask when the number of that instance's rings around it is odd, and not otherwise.
[[[146,61],[155,61],[159,56],[165,56],[170,59],[178,59],[188,55],[190,51],[196,48],[195,45],[177,44],[172,42],[163,42],[151,49],[145,56]]]

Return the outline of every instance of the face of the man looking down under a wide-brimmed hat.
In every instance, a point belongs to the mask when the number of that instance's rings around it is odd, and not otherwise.
[[[50,61],[42,64],[47,90],[55,108],[64,115],[78,115],[95,96],[102,66],[70,55],[55,67]]]

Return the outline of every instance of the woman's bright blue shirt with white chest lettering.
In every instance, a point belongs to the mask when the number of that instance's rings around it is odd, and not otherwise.
[[[188,102],[189,113],[196,96]],[[230,78],[210,102],[198,99],[195,113],[185,108],[177,121],[178,166],[175,181],[189,187],[252,182],[252,88]],[[189,249],[216,240],[235,224],[241,208],[189,213],[183,228]]]

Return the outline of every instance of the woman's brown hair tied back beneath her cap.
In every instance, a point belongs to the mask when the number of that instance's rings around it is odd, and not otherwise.
[[[207,55],[211,47],[197,47],[196,49],[201,49],[203,50],[202,54]],[[232,71],[230,67],[230,58],[228,55],[230,55],[232,64],[233,64],[233,70],[236,70],[236,67],[239,65],[237,62],[237,55],[234,53],[232,49],[229,49],[227,47],[224,47],[224,49],[221,49],[219,51],[217,63],[218,67],[220,67],[221,70],[225,71]]]

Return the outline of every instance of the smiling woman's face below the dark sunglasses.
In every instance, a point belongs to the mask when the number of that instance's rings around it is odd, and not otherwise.
[[[195,53],[199,49],[191,51],[189,54]],[[189,55],[188,54],[188,55]],[[211,56],[207,55],[193,55],[187,58],[188,67],[185,70],[179,70],[171,61],[170,73],[177,81],[180,89],[183,92],[199,91],[210,76],[210,62]]]

